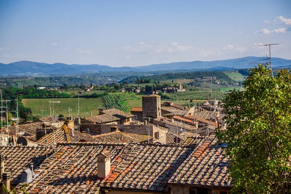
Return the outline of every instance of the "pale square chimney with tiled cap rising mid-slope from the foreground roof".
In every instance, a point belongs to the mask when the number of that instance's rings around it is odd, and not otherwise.
[[[98,174],[97,176],[99,178],[105,178],[109,175],[110,173],[110,161],[111,153],[107,150],[103,150],[97,155],[98,163]]]

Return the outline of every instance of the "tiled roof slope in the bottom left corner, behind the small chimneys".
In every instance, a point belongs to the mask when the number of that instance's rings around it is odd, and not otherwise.
[[[52,147],[48,147],[48,156],[52,152]],[[4,166],[5,171],[11,173],[11,184],[16,185],[21,180],[22,172],[30,167],[33,162],[33,169],[40,166],[46,159],[45,146],[0,146],[0,154],[6,156]],[[0,179],[1,180],[1,179]]]

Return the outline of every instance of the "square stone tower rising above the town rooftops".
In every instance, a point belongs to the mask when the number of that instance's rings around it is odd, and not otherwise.
[[[161,97],[150,95],[143,97],[143,118],[158,118],[161,116]]]

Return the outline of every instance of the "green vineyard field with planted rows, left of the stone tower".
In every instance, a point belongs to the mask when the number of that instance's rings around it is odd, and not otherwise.
[[[89,116],[90,112],[97,115],[98,109],[116,108],[125,112],[130,110],[128,102],[141,100],[140,95],[134,93],[112,93],[108,96],[98,98],[82,98],[80,97],[80,115]],[[31,108],[32,114],[41,114],[40,110],[45,110],[46,114],[50,114],[49,101],[60,101],[59,104],[54,104],[55,115],[68,115],[68,107],[70,106],[71,115],[78,115],[78,98],[41,98],[41,99],[22,99],[24,106]],[[52,109],[52,104],[51,104]]]

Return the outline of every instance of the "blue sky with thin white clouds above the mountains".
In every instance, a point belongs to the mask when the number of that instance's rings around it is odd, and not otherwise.
[[[0,0],[0,63],[291,59],[291,0]]]

